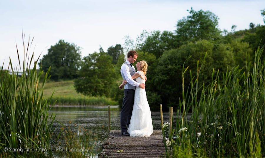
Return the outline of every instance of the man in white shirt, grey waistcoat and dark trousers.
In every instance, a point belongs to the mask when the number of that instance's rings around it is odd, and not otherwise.
[[[134,102],[134,91],[136,87],[145,89],[144,83],[138,83],[132,80],[132,75],[135,73],[135,68],[132,63],[136,61],[138,53],[136,51],[129,51],[127,54],[127,60],[122,64],[120,73],[123,80],[127,81],[124,85],[124,97],[122,101],[122,109],[120,111],[120,127],[122,135],[130,136],[127,132],[127,127],[130,125],[132,116],[132,107]]]

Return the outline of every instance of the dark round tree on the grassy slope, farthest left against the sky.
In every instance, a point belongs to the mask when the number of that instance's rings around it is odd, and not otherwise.
[[[48,53],[39,62],[42,69],[47,72],[51,66],[51,79],[72,79],[77,78],[80,68],[81,51],[74,43],[70,44],[59,40],[54,46],[48,49]]]

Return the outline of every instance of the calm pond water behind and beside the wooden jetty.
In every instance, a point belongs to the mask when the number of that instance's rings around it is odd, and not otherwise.
[[[78,132],[78,126],[80,126],[94,133],[97,137],[96,152],[101,152],[101,144],[108,138],[107,106],[54,106],[49,113],[56,114],[56,120],[58,122],[61,122],[66,127],[71,127],[76,130],[76,132]],[[160,129],[160,112],[151,113],[153,128],[155,130]],[[118,106],[111,106],[110,117],[110,129],[120,130],[120,110]],[[164,122],[169,122],[168,112],[163,112],[163,119]],[[69,121],[71,122],[69,123]],[[54,121],[53,123],[55,135],[59,134],[62,127],[58,122]],[[52,141],[54,140],[55,139],[52,139]]]

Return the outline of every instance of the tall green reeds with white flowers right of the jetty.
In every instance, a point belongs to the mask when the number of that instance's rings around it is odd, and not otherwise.
[[[254,61],[250,61],[247,54],[243,69],[237,66],[222,75],[219,71],[214,74],[213,70],[211,83],[201,87],[198,87],[198,78],[203,64],[199,67],[198,62],[197,75],[192,76],[190,71],[191,81],[186,92],[184,74],[188,68],[184,70],[183,64],[183,93],[177,111],[182,117],[176,118],[175,133],[169,136],[167,157],[183,157],[179,153],[186,153],[188,157],[265,156],[265,61],[260,59],[262,53],[263,48],[258,48]],[[190,120],[186,117],[188,111],[192,112]],[[187,130],[183,130],[184,127]],[[163,135],[165,137],[165,132]]]

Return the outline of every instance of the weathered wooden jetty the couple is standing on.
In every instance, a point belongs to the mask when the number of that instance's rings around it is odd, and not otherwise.
[[[150,137],[123,136],[120,130],[110,131],[102,144],[98,158],[165,157],[165,146],[161,130],[153,130]]]

